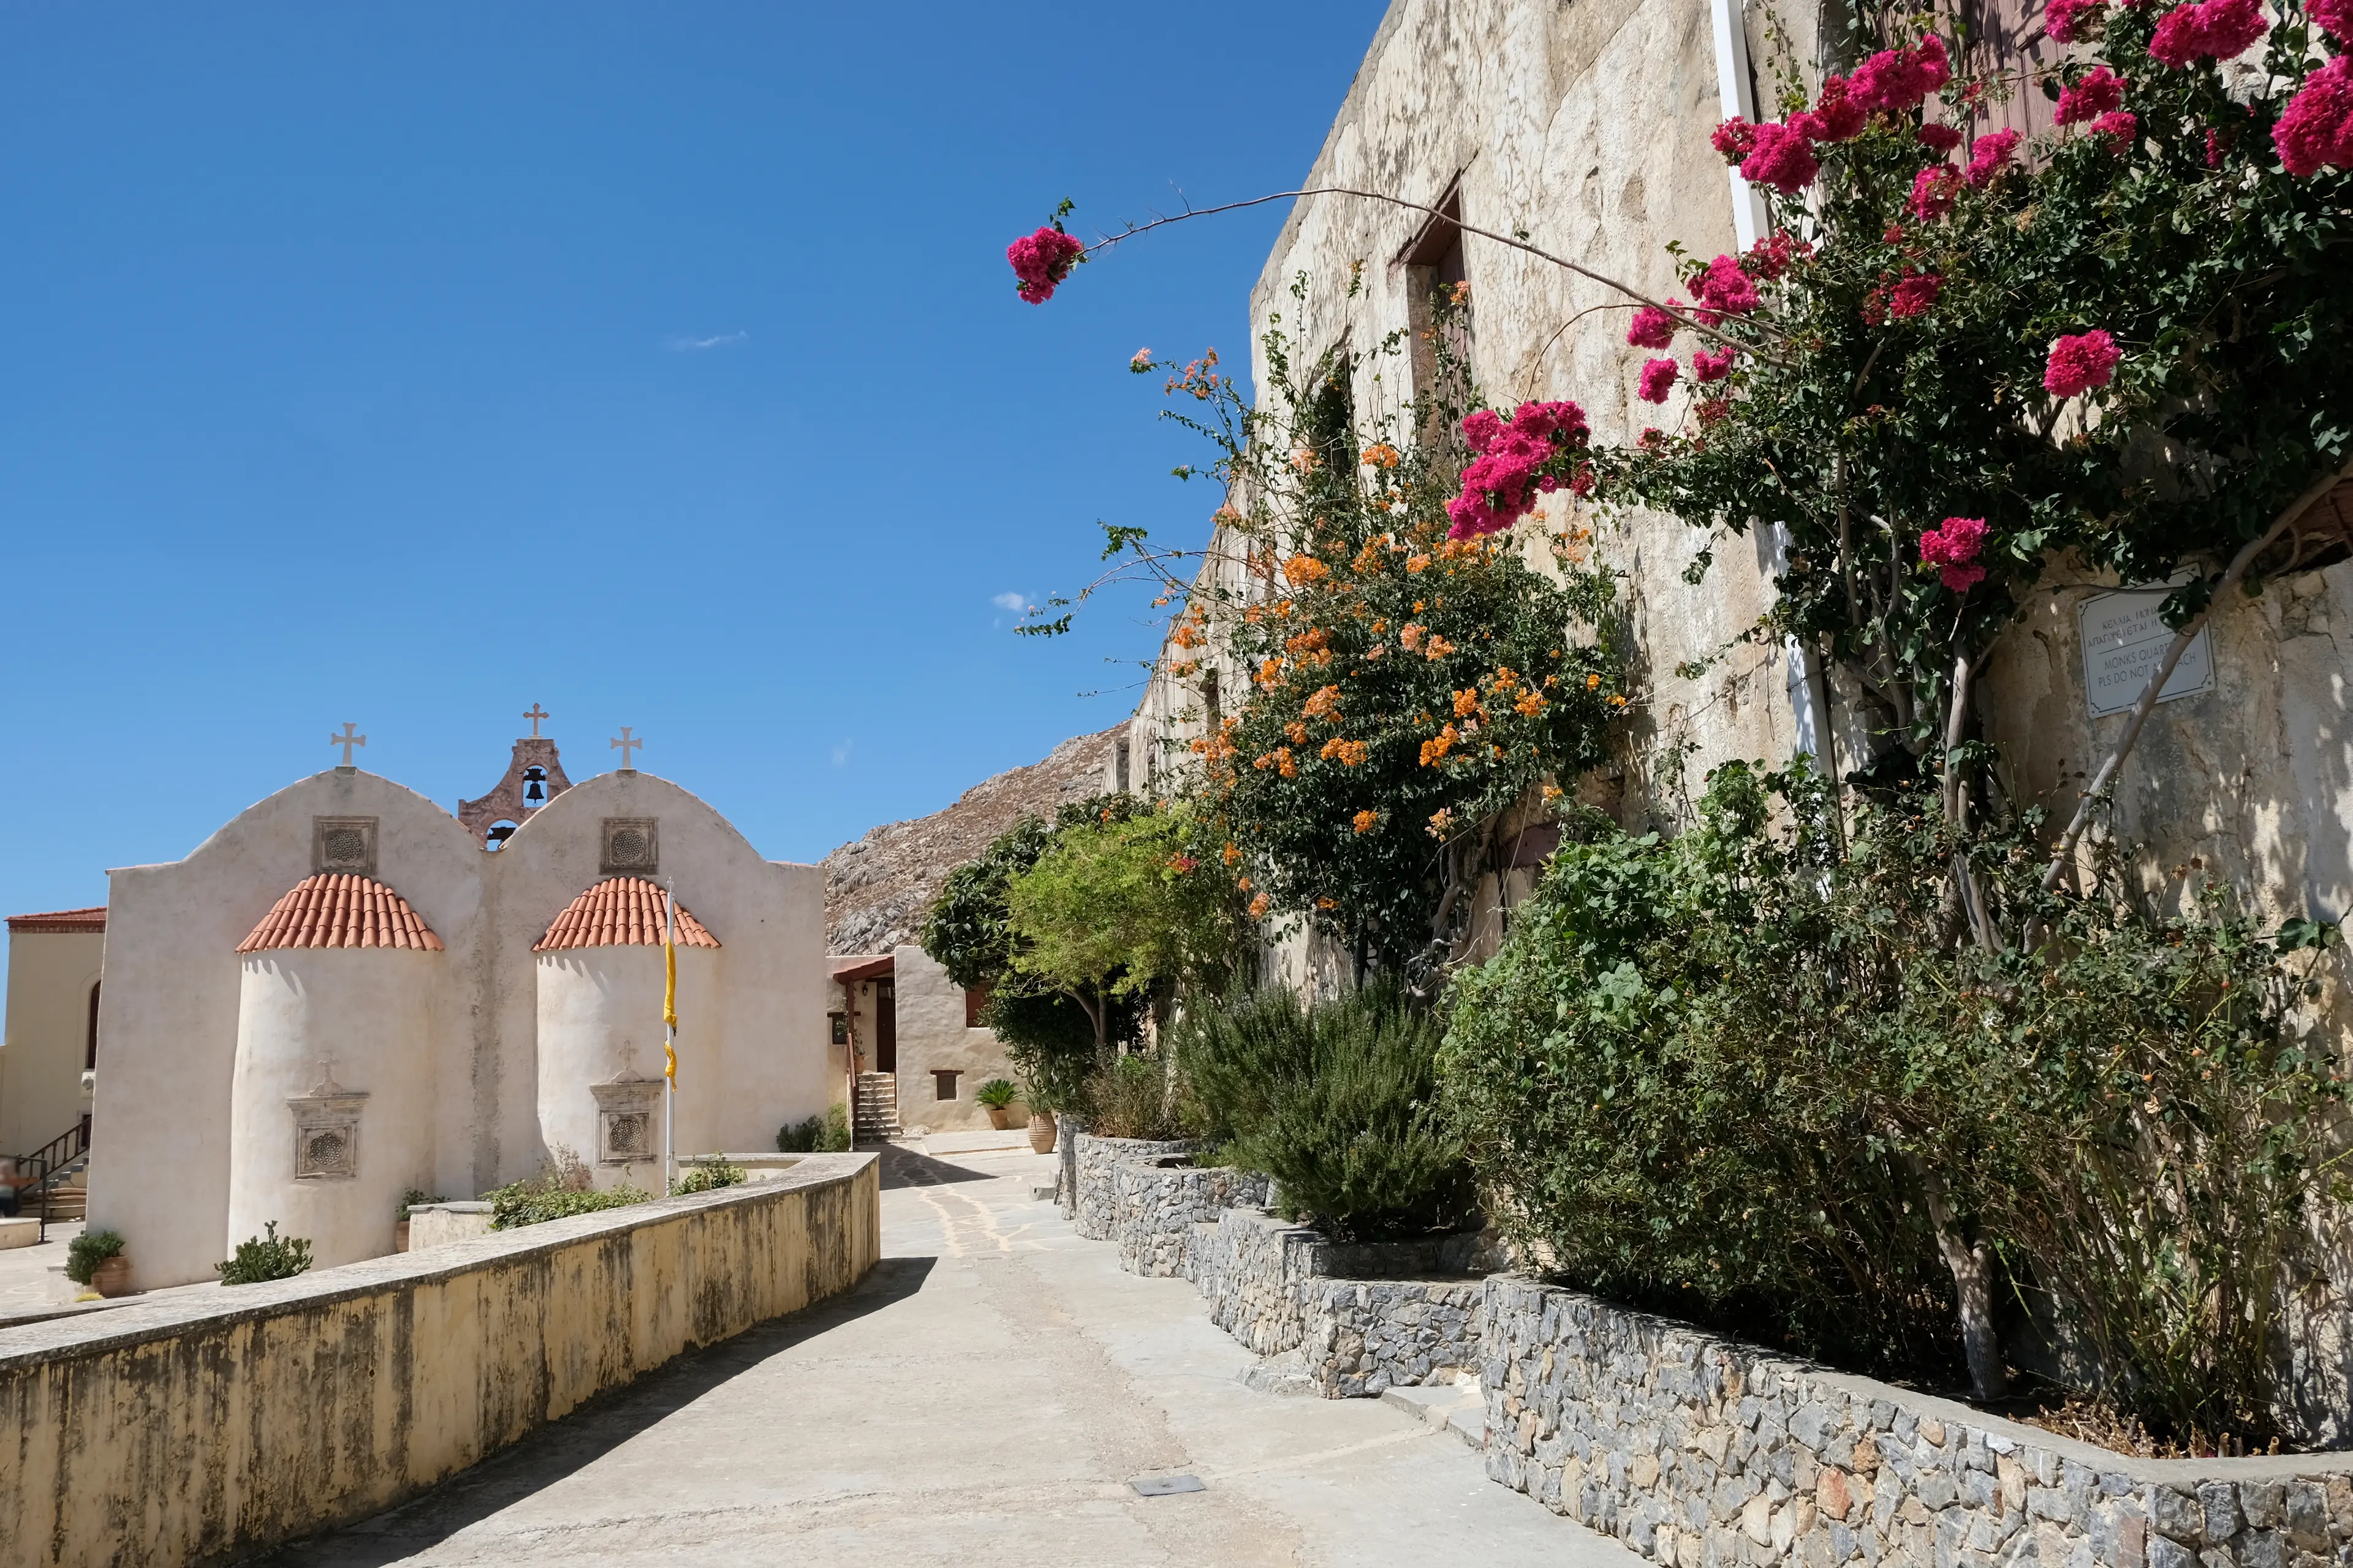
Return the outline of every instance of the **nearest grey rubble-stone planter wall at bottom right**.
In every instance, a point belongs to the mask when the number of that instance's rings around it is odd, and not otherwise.
[[[1487,1474],[1661,1563],[2353,1561],[2353,1455],[2137,1460],[1508,1276],[1475,1333]]]

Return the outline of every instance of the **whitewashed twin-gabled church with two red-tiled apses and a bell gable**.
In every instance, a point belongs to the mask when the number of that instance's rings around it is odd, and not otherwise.
[[[525,717],[459,816],[346,764],[111,872],[89,1222],[139,1288],[271,1220],[318,1267],[376,1258],[409,1190],[562,1154],[659,1192],[666,893],[680,1157],[769,1150],[840,1098],[819,870],[631,766],[572,785]]]

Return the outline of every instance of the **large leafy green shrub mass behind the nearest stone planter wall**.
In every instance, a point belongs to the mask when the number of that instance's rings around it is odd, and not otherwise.
[[[1497,1218],[1579,1286],[1988,1396],[2057,1319],[2160,1434],[2261,1446],[2341,1185],[2332,1063],[2282,1025],[2313,931],[2099,893],[2047,900],[2040,952],[1960,950],[1937,870],[2019,907],[2035,825],[1833,811],[1732,766],[1675,842],[1562,846],[1452,992],[1445,1107]]]

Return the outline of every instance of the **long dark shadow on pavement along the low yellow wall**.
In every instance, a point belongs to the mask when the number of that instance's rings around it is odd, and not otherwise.
[[[736,1373],[915,1295],[934,1262],[936,1258],[882,1258],[847,1295],[755,1324],[708,1349],[687,1352],[626,1387],[598,1394],[513,1448],[461,1469],[407,1502],[332,1535],[313,1535],[247,1561],[280,1568],[381,1568],[409,1559],[593,1465]]]

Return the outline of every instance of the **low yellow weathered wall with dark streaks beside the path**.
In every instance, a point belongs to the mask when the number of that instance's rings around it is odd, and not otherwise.
[[[195,1563],[365,1519],[591,1394],[840,1295],[873,1154],[0,1331],[0,1563]]]

